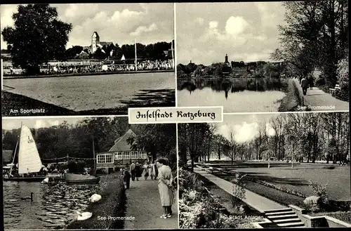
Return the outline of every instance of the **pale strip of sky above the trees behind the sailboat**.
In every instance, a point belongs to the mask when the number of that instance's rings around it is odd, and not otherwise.
[[[63,121],[67,121],[67,124],[77,124],[78,121],[83,120],[84,117],[55,117],[55,118],[34,118],[34,119],[2,119],[2,129],[12,130],[20,128],[21,122],[23,125],[29,128],[48,128],[51,126],[58,126]]]

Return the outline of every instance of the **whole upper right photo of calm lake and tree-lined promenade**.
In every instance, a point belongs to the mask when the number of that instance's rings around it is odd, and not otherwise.
[[[348,111],[347,1],[176,4],[179,107]]]

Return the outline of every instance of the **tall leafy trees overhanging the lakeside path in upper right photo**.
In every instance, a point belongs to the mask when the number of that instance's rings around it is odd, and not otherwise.
[[[288,1],[286,25],[279,26],[281,49],[272,58],[285,60],[306,75],[322,70],[324,89],[337,82],[338,60],[348,53],[347,1]]]

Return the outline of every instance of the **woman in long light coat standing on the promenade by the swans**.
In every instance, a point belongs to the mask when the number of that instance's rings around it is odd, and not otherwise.
[[[171,168],[167,166],[166,159],[159,159],[157,161],[157,167],[159,169],[159,196],[161,199],[161,206],[164,209],[164,213],[161,215],[161,218],[171,218],[171,208],[175,201],[172,171]]]

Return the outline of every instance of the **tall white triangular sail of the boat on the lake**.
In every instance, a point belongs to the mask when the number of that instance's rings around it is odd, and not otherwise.
[[[18,173],[38,173],[41,166],[43,164],[32,132],[23,125],[20,133],[20,149],[18,150]]]

